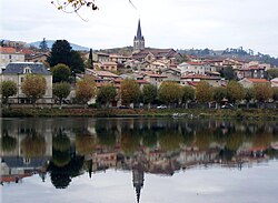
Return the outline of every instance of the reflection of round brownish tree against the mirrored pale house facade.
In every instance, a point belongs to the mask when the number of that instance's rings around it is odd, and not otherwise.
[[[43,156],[46,153],[47,143],[43,136],[40,136],[36,131],[31,131],[22,141],[21,150],[26,158]]]

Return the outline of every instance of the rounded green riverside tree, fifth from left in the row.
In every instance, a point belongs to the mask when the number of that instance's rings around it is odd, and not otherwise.
[[[97,94],[97,101],[100,103],[105,103],[106,106],[109,106],[109,103],[115,100],[117,97],[117,90],[113,85],[108,84],[101,87]]]

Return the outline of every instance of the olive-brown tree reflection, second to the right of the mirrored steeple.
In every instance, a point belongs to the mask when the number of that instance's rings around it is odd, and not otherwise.
[[[183,138],[180,133],[175,133],[172,131],[166,130],[163,133],[159,134],[159,144],[161,150],[173,151],[180,148],[183,142]]]

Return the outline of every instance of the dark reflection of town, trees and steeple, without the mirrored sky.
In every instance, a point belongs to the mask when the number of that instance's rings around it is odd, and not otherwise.
[[[172,175],[199,165],[250,166],[278,156],[275,121],[167,119],[4,119],[1,184],[50,175],[66,189],[83,173],[131,171],[139,202],[145,173]]]

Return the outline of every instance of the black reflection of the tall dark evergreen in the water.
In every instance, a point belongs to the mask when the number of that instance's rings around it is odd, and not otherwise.
[[[56,189],[66,189],[71,179],[80,175],[83,165],[83,156],[71,155],[71,160],[67,165],[57,166],[52,161],[49,163],[48,171],[51,182]]]

